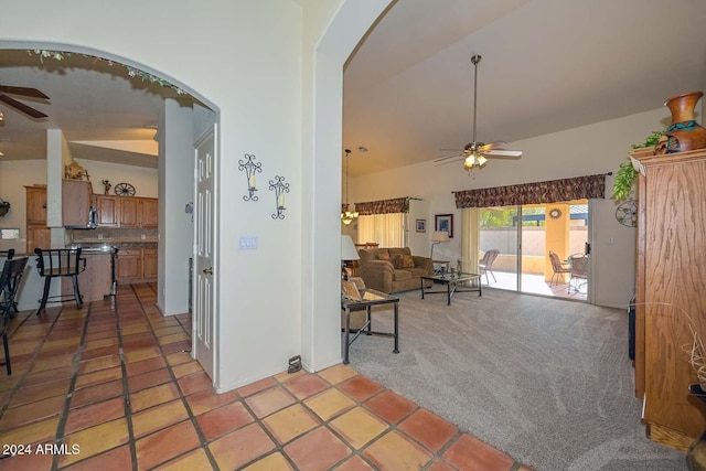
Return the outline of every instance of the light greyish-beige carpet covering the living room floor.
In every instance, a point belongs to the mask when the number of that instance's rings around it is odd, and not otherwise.
[[[684,470],[645,438],[627,310],[495,289],[399,295],[399,354],[361,335],[351,366],[537,470]],[[392,329],[392,309],[374,314]],[[686,361],[686,358],[685,358]]]

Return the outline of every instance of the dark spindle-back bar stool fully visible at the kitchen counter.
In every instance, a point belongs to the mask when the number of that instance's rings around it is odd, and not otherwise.
[[[81,257],[81,248],[35,248],[36,270],[44,278],[44,293],[40,300],[40,309],[46,308],[46,301],[57,299],[60,302],[76,300],[76,308],[81,309],[83,296],[78,290],[78,275],[86,269],[86,259]],[[49,296],[52,278],[71,277],[74,283],[73,295]]]

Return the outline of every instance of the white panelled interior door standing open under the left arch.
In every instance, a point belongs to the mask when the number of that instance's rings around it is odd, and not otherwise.
[[[192,355],[215,382],[215,126],[196,142]]]

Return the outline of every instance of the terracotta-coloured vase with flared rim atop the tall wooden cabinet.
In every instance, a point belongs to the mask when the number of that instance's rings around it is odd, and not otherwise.
[[[672,124],[655,147],[655,156],[706,148],[706,129],[694,119],[694,108],[703,96],[703,92],[689,92],[664,101]]]

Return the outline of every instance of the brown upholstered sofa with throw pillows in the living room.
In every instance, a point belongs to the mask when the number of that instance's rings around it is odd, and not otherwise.
[[[409,247],[361,249],[357,254],[361,258],[355,276],[378,291],[418,289],[421,276],[434,275],[431,258],[411,255]]]

